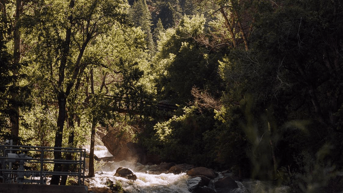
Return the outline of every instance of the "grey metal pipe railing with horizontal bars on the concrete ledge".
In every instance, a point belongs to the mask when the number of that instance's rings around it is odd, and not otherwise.
[[[17,174],[17,183],[40,183],[44,184],[47,175],[70,175],[78,177],[78,184],[83,185],[84,183],[84,173],[85,173],[85,157],[86,150],[81,148],[65,148],[65,147],[39,147],[39,146],[16,146],[16,145],[0,145],[0,149],[3,149],[3,156],[0,156],[1,163],[3,166],[0,169],[0,174],[2,175],[3,182],[6,180],[13,181],[13,176]],[[14,151],[21,152],[40,152],[40,158],[28,157],[26,154],[22,153],[20,155],[12,154]],[[62,152],[62,153],[75,153],[76,159],[66,160],[66,159],[47,159],[45,156],[47,152]],[[9,155],[11,157],[9,157]],[[12,168],[12,162],[19,162],[19,169]],[[25,170],[25,163],[39,163],[40,170]],[[76,171],[47,171],[44,167],[47,164],[68,164],[76,166]],[[29,175],[31,180],[25,179]],[[39,180],[33,180],[32,177],[39,177]],[[44,180],[45,179],[45,180]],[[81,180],[82,179],[82,180]],[[10,183],[10,181],[9,181]]]

